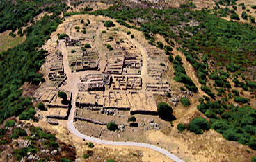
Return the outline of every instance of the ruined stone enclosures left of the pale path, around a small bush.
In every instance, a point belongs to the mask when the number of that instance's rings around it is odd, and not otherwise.
[[[65,103],[62,102],[62,98],[58,97],[59,91],[64,91],[67,94]],[[47,111],[44,113],[46,118],[67,120],[71,108],[72,93],[52,87],[40,89],[38,93],[35,93],[35,96],[38,98],[38,102],[42,102],[47,107]]]

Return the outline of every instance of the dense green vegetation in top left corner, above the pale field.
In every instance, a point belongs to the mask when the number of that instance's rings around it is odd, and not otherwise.
[[[54,12],[52,17],[61,13],[65,4],[54,0],[33,0],[33,1],[1,1],[0,2],[0,33],[6,30],[15,31],[17,28],[26,26],[27,23],[34,23],[34,17],[42,11]],[[42,6],[51,4],[50,7]]]

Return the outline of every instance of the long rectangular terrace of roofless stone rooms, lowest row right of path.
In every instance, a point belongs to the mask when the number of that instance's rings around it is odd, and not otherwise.
[[[84,91],[77,95],[76,106],[93,111],[117,109],[118,111],[130,111],[131,114],[157,114],[154,96],[146,92]]]

